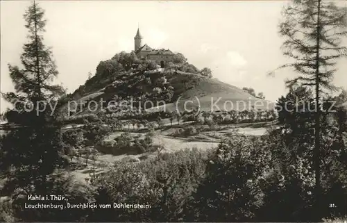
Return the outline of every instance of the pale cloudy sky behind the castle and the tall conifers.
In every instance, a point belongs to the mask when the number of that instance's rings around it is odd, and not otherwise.
[[[282,70],[288,62],[278,35],[281,8],[288,1],[37,1],[47,19],[45,44],[58,65],[58,83],[73,92],[95,74],[101,60],[131,51],[139,24],[152,48],[181,52],[199,69],[226,83],[252,87],[276,101],[285,90]],[[30,1],[1,3],[1,92],[13,90],[8,66],[20,65],[26,42],[23,14]],[[346,3],[345,3],[346,4]],[[346,43],[346,41],[345,41]],[[341,60],[335,83],[347,88],[347,61]],[[8,105],[1,99],[1,112]]]

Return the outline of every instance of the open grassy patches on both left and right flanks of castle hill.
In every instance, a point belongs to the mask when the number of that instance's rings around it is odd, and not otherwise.
[[[147,75],[163,75],[167,79],[167,82],[174,88],[171,103],[167,103],[165,106],[162,106],[162,104],[156,106],[157,104],[155,104],[155,107],[147,109],[149,111],[176,111],[178,109],[181,112],[183,110],[190,110],[193,107],[200,106],[200,110],[211,111],[212,109],[213,112],[218,112],[219,110],[248,110],[251,109],[252,106],[255,106],[255,108],[258,109],[271,109],[274,106],[271,101],[253,97],[251,94],[248,94],[248,92],[233,85],[223,83],[217,79],[210,79],[199,74],[162,70]],[[143,81],[136,82],[133,81],[133,79],[136,79],[136,74],[128,76],[128,81],[125,82],[127,87],[132,85],[128,91],[122,89],[124,86],[114,88],[113,90],[106,90],[110,89],[110,86],[112,87],[112,84],[110,84],[106,85],[104,88],[96,90],[95,92],[88,92],[76,101],[79,103],[80,101],[88,101],[91,99],[94,101],[99,101],[100,99],[111,99],[115,94],[121,91],[126,91],[130,97],[135,96],[133,95],[135,90],[131,90],[132,88],[142,88],[143,92],[150,91],[148,88],[149,86],[143,83]],[[212,106],[216,101],[217,106]],[[256,104],[255,101],[257,101]],[[87,115],[99,112],[100,110],[96,110],[95,112],[85,110],[81,113],[76,113],[76,115]]]

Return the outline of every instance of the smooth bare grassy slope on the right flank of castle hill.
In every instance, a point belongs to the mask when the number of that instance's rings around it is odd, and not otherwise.
[[[204,111],[212,109],[213,112],[249,110],[252,106],[258,109],[274,108],[272,101],[253,97],[248,92],[217,79],[184,72],[171,72],[166,76],[174,87],[174,103],[149,110],[183,111],[196,106]]]

